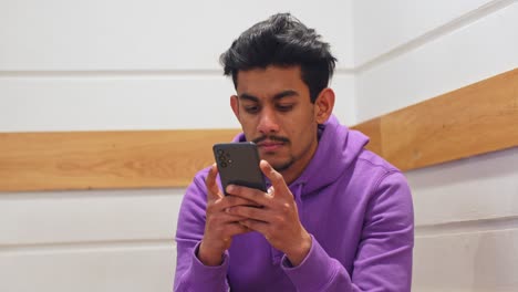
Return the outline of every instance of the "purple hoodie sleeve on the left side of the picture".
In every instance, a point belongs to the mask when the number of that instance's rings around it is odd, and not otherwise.
[[[206,171],[203,173],[206,175]],[[204,237],[207,192],[205,176],[198,174],[182,201],[176,229],[176,273],[174,291],[228,291],[228,253],[218,267],[204,265],[196,253]]]

